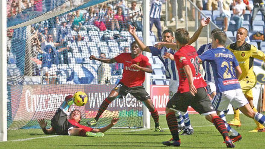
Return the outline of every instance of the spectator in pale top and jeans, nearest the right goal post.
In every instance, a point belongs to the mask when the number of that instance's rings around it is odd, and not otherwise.
[[[128,9],[128,20],[136,28],[136,31],[142,31],[141,12],[139,9],[136,9],[136,1],[133,1],[131,5],[132,7]]]

